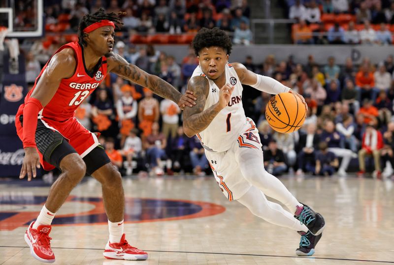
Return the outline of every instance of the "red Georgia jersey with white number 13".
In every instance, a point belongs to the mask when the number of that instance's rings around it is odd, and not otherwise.
[[[58,122],[74,117],[74,111],[78,108],[79,104],[81,104],[82,101],[99,86],[107,74],[107,60],[104,56],[99,60],[93,71],[93,75],[90,75],[85,66],[83,48],[80,44],[78,42],[67,43],[60,47],[56,53],[66,48],[72,48],[74,50],[76,59],[75,72],[70,78],[62,79],[59,88],[51,101],[49,101],[49,103],[39,112],[39,114],[44,118]],[[50,60],[51,59],[49,59],[49,61]],[[25,103],[32,95],[38,80],[47,67],[49,61],[35,79],[33,89],[28,93],[28,95],[26,95]],[[24,104],[21,105],[18,113],[22,114],[23,107]]]

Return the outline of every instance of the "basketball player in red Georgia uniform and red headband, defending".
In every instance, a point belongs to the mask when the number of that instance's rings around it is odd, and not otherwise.
[[[146,252],[129,245],[123,233],[125,202],[120,173],[111,165],[96,135],[77,122],[74,111],[109,72],[147,87],[157,95],[173,100],[181,108],[195,104],[195,97],[190,92],[182,96],[164,80],[112,52],[114,30],[121,24],[118,15],[104,13],[103,9],[86,14],[79,25],[79,41],[67,43],[51,57],[16,115],[17,133],[25,149],[20,178],[27,174],[30,181],[40,164],[46,170],[56,166],[62,171],[39,216],[25,233],[31,254],[42,262],[55,261],[49,237],[51,222],[86,173],[102,185],[109,225],[104,257],[120,260],[148,258]]]

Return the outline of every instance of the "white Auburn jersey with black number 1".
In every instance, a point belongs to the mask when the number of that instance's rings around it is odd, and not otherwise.
[[[211,152],[229,150],[234,141],[237,140],[239,134],[243,132],[244,126],[247,123],[241,100],[242,84],[231,64],[226,64],[225,73],[226,83],[234,86],[231,99],[228,105],[216,115],[209,126],[204,131],[197,133],[202,146]],[[202,72],[200,66],[197,66],[194,70],[192,77],[194,76],[204,76],[208,79],[209,94],[204,107],[204,110],[206,110],[219,101],[220,88]]]

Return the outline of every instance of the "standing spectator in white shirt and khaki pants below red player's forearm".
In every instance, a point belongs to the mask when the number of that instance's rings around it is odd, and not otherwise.
[[[171,135],[171,138],[176,136],[180,112],[181,109],[175,102],[169,99],[163,99],[160,102],[160,113],[163,118],[163,134],[165,138],[168,138],[169,135]]]

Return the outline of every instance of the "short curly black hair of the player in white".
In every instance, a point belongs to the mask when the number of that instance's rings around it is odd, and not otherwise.
[[[192,47],[198,56],[198,53],[207,47],[220,47],[224,49],[228,55],[231,53],[232,43],[230,37],[225,31],[219,28],[207,29],[202,28],[198,31],[192,42]]]

